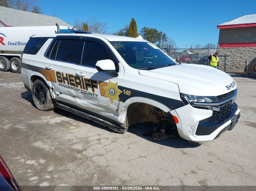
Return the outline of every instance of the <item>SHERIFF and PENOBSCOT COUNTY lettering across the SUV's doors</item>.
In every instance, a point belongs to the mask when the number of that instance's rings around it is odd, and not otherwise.
[[[89,79],[89,78],[80,78],[73,74],[63,73],[63,72],[56,72],[57,81],[59,82],[59,86],[75,90],[81,92],[83,94],[91,95],[91,96],[98,96],[95,94],[95,89],[98,89],[98,81]],[[88,92],[91,89],[91,92]]]

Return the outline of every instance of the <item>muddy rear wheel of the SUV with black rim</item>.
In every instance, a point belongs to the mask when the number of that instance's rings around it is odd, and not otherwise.
[[[56,107],[54,100],[50,95],[47,84],[41,80],[36,80],[32,86],[32,97],[35,106],[42,111],[50,111]]]

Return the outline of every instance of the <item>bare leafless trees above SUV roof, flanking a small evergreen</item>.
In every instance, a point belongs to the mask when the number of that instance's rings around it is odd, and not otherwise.
[[[92,33],[100,33],[100,34],[106,34],[107,33],[107,23],[97,21],[96,17],[89,18],[85,21],[85,23],[88,24],[88,31]],[[83,28],[83,22],[74,20],[74,26],[77,29]]]

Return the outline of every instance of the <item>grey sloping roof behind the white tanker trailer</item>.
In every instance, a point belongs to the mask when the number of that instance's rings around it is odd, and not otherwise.
[[[0,27],[53,26],[56,23],[72,27],[58,17],[0,6]]]

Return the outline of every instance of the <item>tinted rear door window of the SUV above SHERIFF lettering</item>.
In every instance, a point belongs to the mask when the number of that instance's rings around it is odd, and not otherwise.
[[[56,60],[81,64],[84,42],[83,40],[61,39],[58,43]],[[55,49],[53,48],[53,50]],[[54,55],[53,50],[52,54]],[[50,57],[52,57],[52,54]]]

